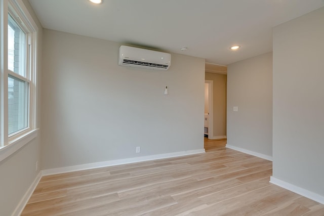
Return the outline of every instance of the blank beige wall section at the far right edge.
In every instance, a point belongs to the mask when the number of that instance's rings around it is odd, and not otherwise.
[[[324,203],[324,8],[273,29],[273,177]]]

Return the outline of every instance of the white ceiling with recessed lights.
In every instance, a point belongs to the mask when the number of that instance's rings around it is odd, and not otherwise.
[[[324,0],[103,1],[29,0],[44,28],[220,65],[271,52],[272,27],[324,7]],[[241,48],[231,51],[231,45]]]

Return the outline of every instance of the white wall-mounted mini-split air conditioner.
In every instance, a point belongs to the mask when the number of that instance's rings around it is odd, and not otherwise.
[[[120,46],[118,65],[154,70],[168,70],[171,65],[171,54]]]

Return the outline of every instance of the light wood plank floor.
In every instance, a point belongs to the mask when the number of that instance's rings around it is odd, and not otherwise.
[[[270,184],[270,161],[225,144],[205,138],[205,154],[43,177],[22,215],[324,215]]]

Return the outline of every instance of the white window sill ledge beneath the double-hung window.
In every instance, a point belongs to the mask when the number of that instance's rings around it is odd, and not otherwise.
[[[21,147],[37,137],[38,128],[18,137],[11,141],[8,145],[0,147],[0,162],[18,151]]]

